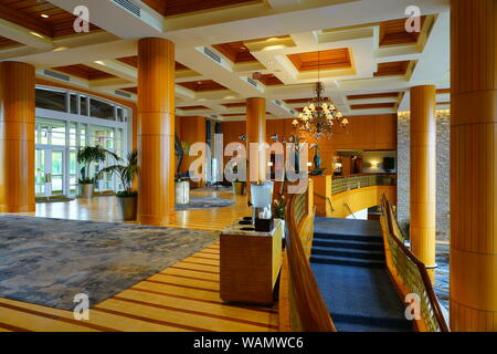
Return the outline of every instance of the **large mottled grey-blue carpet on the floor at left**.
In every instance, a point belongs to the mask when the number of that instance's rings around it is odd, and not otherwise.
[[[95,305],[218,239],[211,231],[0,216],[0,296]]]

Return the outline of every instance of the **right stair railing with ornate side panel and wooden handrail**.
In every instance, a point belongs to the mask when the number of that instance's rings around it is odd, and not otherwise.
[[[385,196],[381,200],[381,209],[388,270],[404,296],[416,294],[420,300],[421,317],[415,321],[416,329],[420,332],[450,332],[426,267],[404,246],[392,206]]]

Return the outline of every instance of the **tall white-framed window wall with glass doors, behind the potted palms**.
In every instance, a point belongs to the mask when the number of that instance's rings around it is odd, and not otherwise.
[[[76,157],[81,147],[99,145],[120,157],[126,156],[128,126],[124,123],[133,114],[129,108],[78,92],[44,87],[36,87],[36,108],[66,113],[43,112],[42,116],[36,116],[36,197],[77,194],[81,166]],[[108,158],[105,163],[92,164],[88,175],[95,176],[115,163],[114,158]],[[44,179],[47,173],[52,174],[52,185]],[[118,188],[119,180],[115,176],[105,176],[96,185],[99,191]]]

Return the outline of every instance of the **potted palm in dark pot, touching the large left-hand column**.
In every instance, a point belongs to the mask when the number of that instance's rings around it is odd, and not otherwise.
[[[121,162],[121,159],[119,158],[118,162]],[[126,221],[136,220],[138,192],[133,190],[133,181],[135,180],[137,173],[138,152],[133,150],[128,153],[125,165],[116,164],[108,166],[102,169],[97,175],[97,178],[99,178],[105,174],[116,174],[119,178],[123,190],[117,192],[117,201],[123,220]]]

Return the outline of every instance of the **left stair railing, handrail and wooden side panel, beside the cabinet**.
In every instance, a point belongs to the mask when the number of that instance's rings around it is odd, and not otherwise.
[[[314,211],[308,191],[289,198],[279,284],[279,331],[336,332],[328,308],[309,266]]]

